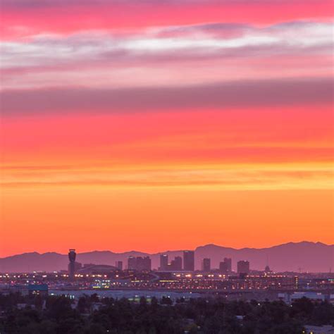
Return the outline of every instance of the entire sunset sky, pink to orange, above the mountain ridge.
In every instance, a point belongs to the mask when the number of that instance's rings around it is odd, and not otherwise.
[[[0,256],[334,243],[333,1],[0,15]]]

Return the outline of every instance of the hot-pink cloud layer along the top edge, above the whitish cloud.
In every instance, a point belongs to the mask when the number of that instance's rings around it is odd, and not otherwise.
[[[218,21],[256,25],[308,18],[323,21],[331,19],[332,6],[330,0],[3,0],[1,38]]]

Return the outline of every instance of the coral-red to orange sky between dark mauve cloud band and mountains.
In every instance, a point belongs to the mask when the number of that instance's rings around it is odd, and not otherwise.
[[[333,133],[318,113],[6,118],[0,250],[331,243]]]

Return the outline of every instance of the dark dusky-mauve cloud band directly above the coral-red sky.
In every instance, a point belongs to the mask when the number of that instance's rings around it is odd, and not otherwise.
[[[11,113],[163,111],[333,103],[333,80],[253,80],[187,87],[36,89],[1,92]]]

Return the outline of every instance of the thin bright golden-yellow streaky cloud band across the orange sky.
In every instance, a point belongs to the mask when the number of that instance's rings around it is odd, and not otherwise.
[[[3,187],[103,186],[103,187],[218,187],[228,190],[330,189],[330,166],[192,166],[123,170],[115,168],[8,169]]]

